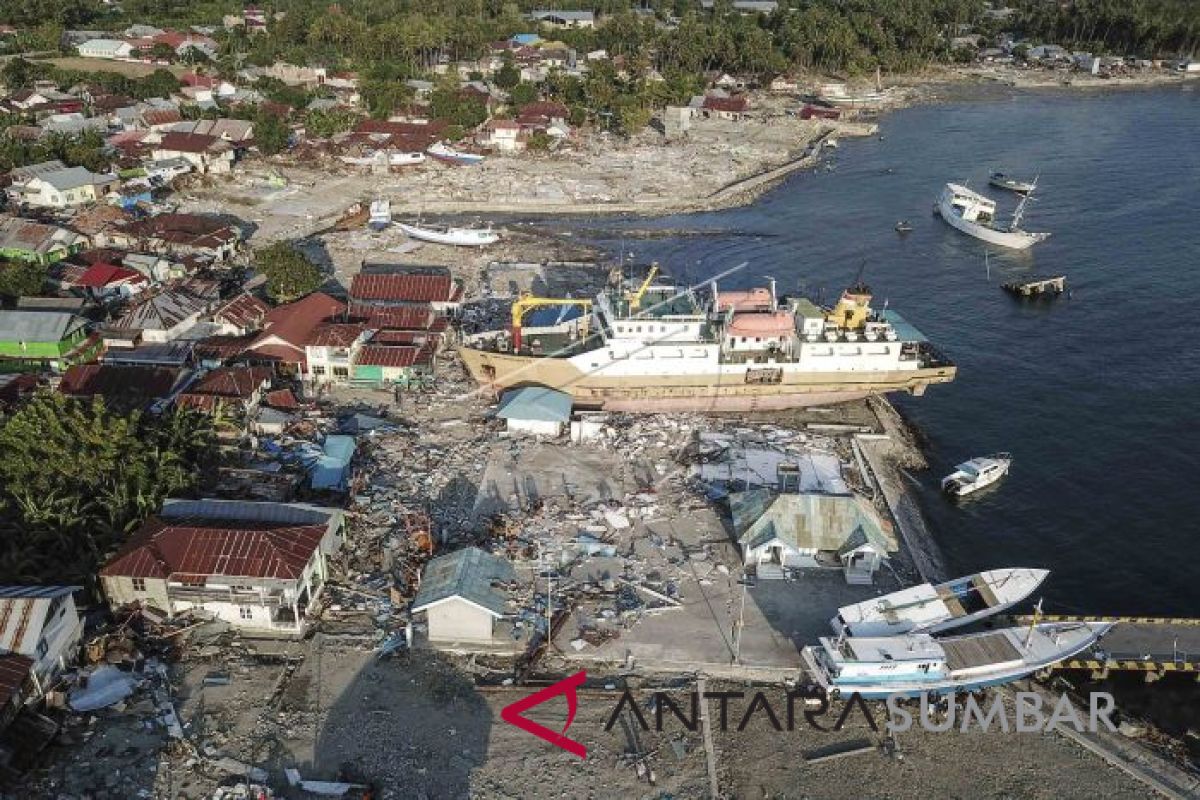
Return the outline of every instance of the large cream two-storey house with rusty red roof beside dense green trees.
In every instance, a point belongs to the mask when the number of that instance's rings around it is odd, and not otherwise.
[[[305,504],[168,500],[100,571],[113,608],[200,609],[300,636],[342,543],[343,516]]]

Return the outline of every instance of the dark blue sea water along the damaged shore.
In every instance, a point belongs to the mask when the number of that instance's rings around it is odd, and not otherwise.
[[[881,134],[749,207],[628,223],[703,235],[625,251],[689,279],[749,261],[722,285],[769,275],[827,300],[865,264],[876,302],[959,365],[898,401],[928,437],[918,491],[955,572],[1048,567],[1048,612],[1200,615],[1200,85],[911,108]],[[1054,235],[994,252],[989,276],[984,245],[930,210],[946,181],[984,187],[994,169],[1040,175],[1025,228]],[[1058,272],[1070,297],[1000,289]],[[1001,486],[938,495],[955,463],[997,450],[1015,457]]]

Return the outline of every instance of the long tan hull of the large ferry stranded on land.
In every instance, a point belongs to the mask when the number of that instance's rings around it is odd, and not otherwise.
[[[496,393],[518,386],[548,386],[571,395],[577,408],[612,411],[754,411],[828,405],[870,395],[922,395],[949,383],[955,367],[887,372],[788,372],[778,383],[745,383],[728,374],[586,374],[568,359],[461,348],[475,381]]]

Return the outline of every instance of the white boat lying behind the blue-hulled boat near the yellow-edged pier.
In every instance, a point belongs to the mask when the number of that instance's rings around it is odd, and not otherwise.
[[[1045,581],[1048,570],[986,570],[936,587],[923,583],[842,606],[833,618],[839,636],[941,633],[998,614],[1021,602]]]

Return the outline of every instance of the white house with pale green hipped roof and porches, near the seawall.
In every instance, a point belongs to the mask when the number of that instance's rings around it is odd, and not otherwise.
[[[858,494],[778,494],[769,489],[730,495],[742,557],[760,578],[784,567],[836,567],[847,583],[870,584],[899,549],[890,523]]]

